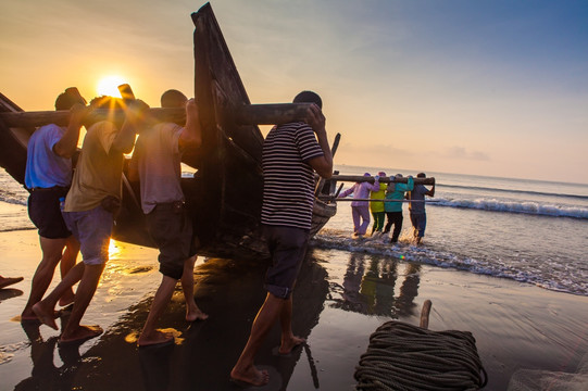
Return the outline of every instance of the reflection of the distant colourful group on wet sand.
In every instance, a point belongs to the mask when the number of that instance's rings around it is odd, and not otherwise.
[[[416,314],[421,265],[406,263],[399,275],[399,262],[377,255],[351,253],[341,286],[331,285],[330,306],[365,315],[398,318]],[[395,297],[397,280],[402,285]]]

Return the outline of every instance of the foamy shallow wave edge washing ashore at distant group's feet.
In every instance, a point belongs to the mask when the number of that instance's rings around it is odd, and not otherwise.
[[[547,268],[550,272],[546,273],[535,267],[462,256],[450,251],[427,245],[416,247],[402,241],[391,245],[389,239],[386,237],[377,239],[366,238],[363,240],[352,239],[348,232],[334,229],[323,229],[312,239],[311,244],[315,248],[361,252],[385,257],[389,256],[401,261],[508,278],[553,291],[588,295],[588,275],[581,269],[566,269],[565,273],[559,273],[556,270],[559,267],[552,265],[553,267]]]

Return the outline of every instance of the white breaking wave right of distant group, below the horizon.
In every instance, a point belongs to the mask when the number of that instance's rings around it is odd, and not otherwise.
[[[429,204],[435,206],[463,207],[492,212],[525,213],[541,216],[574,217],[588,219],[587,207],[541,204],[534,201],[521,202],[497,199],[435,199],[435,201],[429,202]]]

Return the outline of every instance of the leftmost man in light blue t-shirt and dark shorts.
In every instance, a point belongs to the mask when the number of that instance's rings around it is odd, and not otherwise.
[[[38,229],[42,258],[30,283],[30,294],[21,314],[21,320],[37,320],[33,305],[39,302],[53,279],[60,264],[61,278],[75,265],[79,243],[67,229],[61,215],[61,201],[72,185],[72,156],[77,149],[82,121],[86,114],[86,100],[77,88],[67,88],[55,100],[55,110],[70,110],[70,125],[41,126],[28,140],[25,186],[28,197],[28,216]],[[74,301],[72,288],[60,298],[60,305]]]

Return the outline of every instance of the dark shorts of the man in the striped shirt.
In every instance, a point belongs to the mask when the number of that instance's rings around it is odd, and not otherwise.
[[[265,275],[265,289],[279,299],[288,299],[306,253],[309,230],[293,227],[264,226],[272,266]]]

